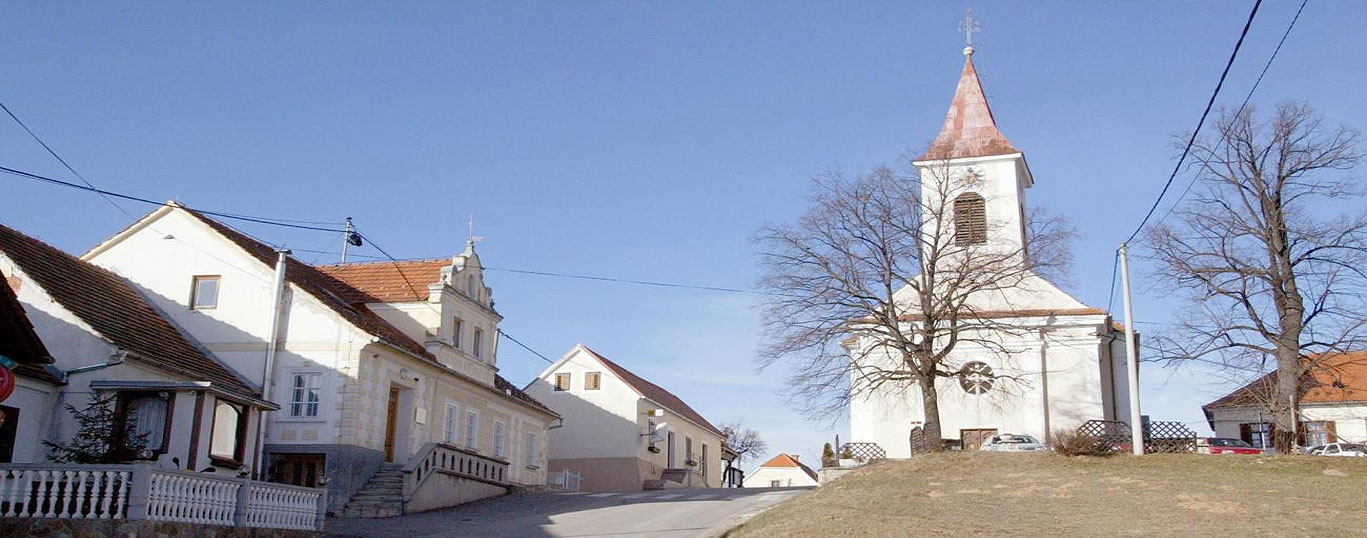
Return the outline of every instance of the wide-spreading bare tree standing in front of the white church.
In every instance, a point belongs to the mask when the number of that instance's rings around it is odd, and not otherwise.
[[[925,438],[940,440],[936,380],[983,376],[965,370],[954,350],[1016,352],[1002,336],[1029,329],[995,310],[1012,310],[1009,298],[1035,285],[1038,272],[1069,262],[1072,228],[1033,214],[1027,244],[987,240],[1013,233],[995,233],[1006,224],[965,203],[961,194],[982,183],[976,171],[949,167],[827,173],[797,223],[759,232],[768,292],[761,365],[783,365],[791,400],[808,416],[834,416],[874,392],[915,397],[915,388]]]

